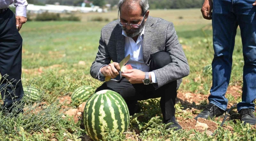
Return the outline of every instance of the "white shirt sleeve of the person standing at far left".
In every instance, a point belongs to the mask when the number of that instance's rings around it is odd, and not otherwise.
[[[26,0],[14,0],[14,2],[16,7],[16,16],[27,17],[26,7],[28,6],[28,2]]]

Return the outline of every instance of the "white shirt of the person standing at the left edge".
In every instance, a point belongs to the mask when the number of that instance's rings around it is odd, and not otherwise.
[[[26,0],[0,0],[0,9],[8,8],[13,2],[16,7],[16,16],[27,17],[26,7],[28,6],[28,2]]]

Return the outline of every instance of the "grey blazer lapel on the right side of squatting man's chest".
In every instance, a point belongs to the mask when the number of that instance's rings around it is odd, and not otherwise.
[[[145,33],[143,36],[143,60],[144,63],[148,63],[148,59],[150,56],[150,47],[152,47],[152,34],[153,34],[153,28],[152,25],[154,22],[152,21],[152,18],[148,16],[148,20],[145,25]]]

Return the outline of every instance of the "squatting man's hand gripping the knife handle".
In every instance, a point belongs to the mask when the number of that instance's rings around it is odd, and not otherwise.
[[[111,77],[112,79],[113,78],[116,78],[118,75],[119,75],[119,71],[120,70],[120,66],[119,66],[119,63],[117,62],[113,62],[113,63],[110,63],[109,65],[105,66],[105,67],[102,67],[100,69],[100,72],[104,75],[104,76],[109,76]]]

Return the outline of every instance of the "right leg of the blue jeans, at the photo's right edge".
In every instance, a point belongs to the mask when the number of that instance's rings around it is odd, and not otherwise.
[[[237,21],[241,30],[243,43],[243,93],[242,101],[237,104],[237,110],[251,108],[256,99],[256,7],[252,6],[254,0],[241,0],[237,2]]]

